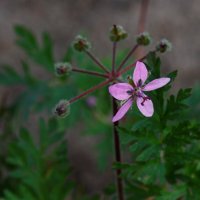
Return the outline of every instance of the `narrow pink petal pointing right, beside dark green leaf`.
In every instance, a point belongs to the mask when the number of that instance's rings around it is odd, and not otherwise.
[[[169,83],[170,78],[158,78],[155,79],[149,83],[147,83],[143,89],[143,91],[151,91],[151,90],[156,90],[158,88],[163,87],[167,83]]]

